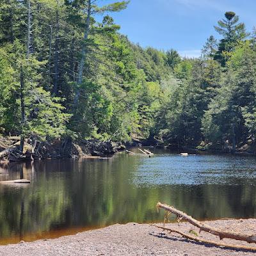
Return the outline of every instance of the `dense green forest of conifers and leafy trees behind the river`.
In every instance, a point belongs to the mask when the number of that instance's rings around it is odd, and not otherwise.
[[[241,147],[256,130],[256,33],[227,12],[200,58],[133,44],[126,1],[2,0],[0,134]],[[217,23],[217,21],[216,21]]]

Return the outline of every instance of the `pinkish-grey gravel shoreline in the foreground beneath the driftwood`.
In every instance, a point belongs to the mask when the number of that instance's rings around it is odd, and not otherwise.
[[[234,230],[245,234],[256,234],[256,219],[205,221],[208,225],[223,230]],[[172,228],[187,232],[189,223],[168,224]],[[193,228],[198,232],[198,228]],[[201,232],[198,237],[220,241],[218,237]],[[255,246],[240,241],[223,239],[224,243]],[[112,225],[98,230],[63,236],[58,239],[42,239],[30,243],[20,242],[0,246],[0,255],[256,255],[254,252],[230,250],[217,246],[188,241],[179,235],[162,232],[148,224],[128,223]]]

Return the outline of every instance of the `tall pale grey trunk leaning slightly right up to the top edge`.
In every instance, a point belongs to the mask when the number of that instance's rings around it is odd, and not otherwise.
[[[84,43],[88,39],[88,35],[90,33],[90,19],[91,19],[91,11],[92,11],[92,0],[88,0],[88,8],[87,8],[87,17],[86,17],[86,24],[84,28]],[[78,88],[76,90],[76,95],[74,97],[74,105],[76,106],[79,100],[80,96],[80,88],[79,86],[82,83],[83,79],[83,71],[84,71],[84,62],[86,60],[86,45],[83,44],[82,52],[81,52],[81,60],[79,63],[79,70],[78,70],[78,76],[77,76],[77,84]]]

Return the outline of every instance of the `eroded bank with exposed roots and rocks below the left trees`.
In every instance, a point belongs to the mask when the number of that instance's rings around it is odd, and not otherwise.
[[[26,140],[23,152],[19,151],[19,137],[0,138],[0,160],[29,161],[35,159],[57,159],[70,157],[109,157],[124,150],[122,143],[99,140],[71,140],[65,138],[55,141]]]

